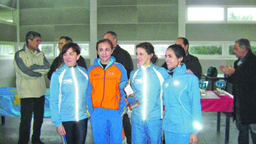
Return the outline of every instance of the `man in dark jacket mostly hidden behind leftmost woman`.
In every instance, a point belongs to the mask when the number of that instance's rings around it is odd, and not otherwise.
[[[61,36],[60,40],[59,40],[59,50],[60,50],[60,54],[58,57],[56,57],[52,64],[51,64],[51,68],[47,74],[47,77],[48,79],[51,80],[51,75],[56,71],[58,70],[59,68],[61,68],[63,65],[64,65],[64,61],[62,59],[62,56],[61,56],[61,50],[62,50],[62,47],[66,44],[66,43],[69,43],[69,42],[73,42],[73,40],[70,38],[70,37],[67,37],[67,36]],[[81,66],[81,67],[84,67],[85,69],[87,69],[86,67],[86,63],[85,63],[85,60],[82,56],[80,56],[80,58],[77,60],[77,65]]]

